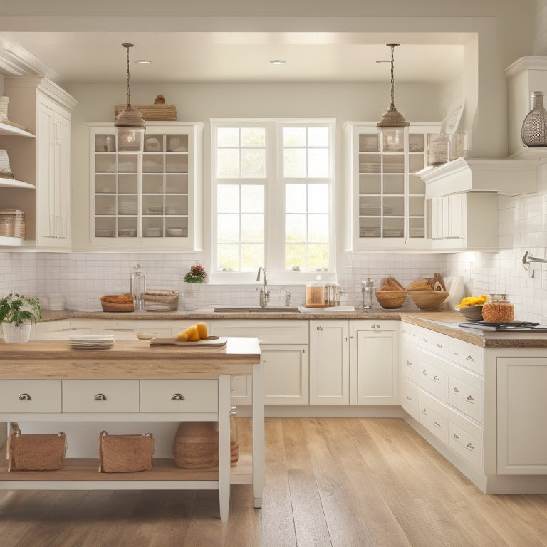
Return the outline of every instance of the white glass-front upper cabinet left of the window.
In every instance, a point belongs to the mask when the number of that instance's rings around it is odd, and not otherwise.
[[[90,127],[91,245],[201,249],[202,124],[147,123],[143,152]]]

